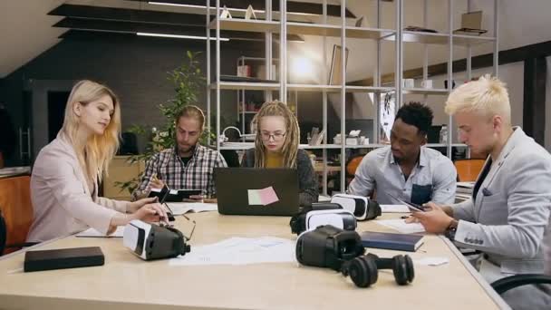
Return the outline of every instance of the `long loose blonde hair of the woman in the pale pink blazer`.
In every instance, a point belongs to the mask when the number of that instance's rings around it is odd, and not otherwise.
[[[86,141],[83,151],[75,149],[82,170],[87,174],[90,182],[93,182],[95,179],[101,181],[103,174],[107,175],[109,162],[119,149],[121,134],[121,106],[119,98],[105,85],[89,80],[82,80],[74,84],[65,106],[65,118],[61,132],[66,139],[73,143],[73,146],[76,146],[81,120],[73,111],[74,104],[80,102],[80,104],[86,105],[105,95],[110,96],[113,101],[114,111],[111,115],[111,121],[102,135],[92,134],[92,137]]]

